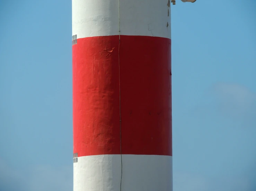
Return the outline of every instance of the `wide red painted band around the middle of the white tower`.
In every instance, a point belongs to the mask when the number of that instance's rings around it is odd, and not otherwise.
[[[120,154],[119,36],[77,39],[73,139],[78,157]],[[172,155],[171,40],[121,36],[122,154]]]

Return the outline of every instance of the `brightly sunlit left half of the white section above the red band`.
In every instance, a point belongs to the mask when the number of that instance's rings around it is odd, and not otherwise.
[[[72,35],[119,35],[118,0],[72,0]]]

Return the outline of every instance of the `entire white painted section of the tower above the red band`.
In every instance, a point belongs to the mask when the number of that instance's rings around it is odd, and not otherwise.
[[[167,3],[168,0],[120,0],[120,34],[171,38]],[[119,35],[119,0],[72,0],[72,35],[75,34],[77,38]]]

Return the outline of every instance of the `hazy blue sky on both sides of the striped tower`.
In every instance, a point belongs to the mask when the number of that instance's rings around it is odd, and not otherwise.
[[[256,2],[171,7],[174,191],[256,190]],[[72,190],[71,1],[0,1],[0,191]]]

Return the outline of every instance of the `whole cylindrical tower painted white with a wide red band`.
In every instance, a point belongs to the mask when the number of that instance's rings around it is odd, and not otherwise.
[[[74,191],[172,191],[168,0],[72,0]]]

